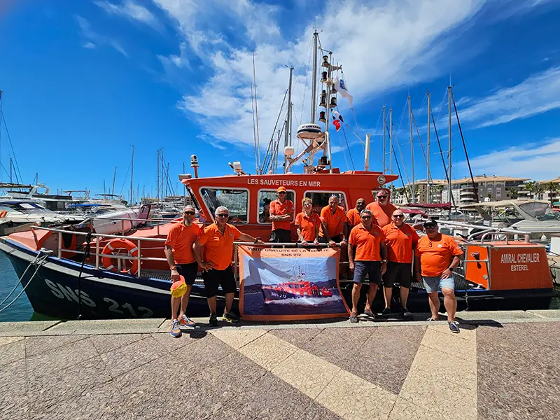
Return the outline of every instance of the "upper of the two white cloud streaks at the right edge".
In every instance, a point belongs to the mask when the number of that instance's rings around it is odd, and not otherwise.
[[[489,127],[528,118],[560,108],[560,66],[533,74],[513,87],[504,87],[489,97],[468,99],[461,121]]]

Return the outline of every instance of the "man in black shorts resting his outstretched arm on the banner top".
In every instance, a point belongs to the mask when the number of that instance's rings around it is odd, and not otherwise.
[[[241,233],[234,225],[226,223],[230,217],[227,207],[218,207],[215,212],[216,222],[208,225],[200,232],[194,245],[195,258],[202,269],[202,279],[210,308],[210,325],[218,325],[216,315],[216,295],[218,286],[222,286],[225,296],[225,311],[222,319],[228,322],[239,322],[239,316],[232,312],[233,297],[237,284],[232,270],[233,242],[262,243],[251,235]],[[201,248],[204,246],[204,253]]]

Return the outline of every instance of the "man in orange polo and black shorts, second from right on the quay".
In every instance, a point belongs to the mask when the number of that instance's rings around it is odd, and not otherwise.
[[[412,226],[405,223],[405,213],[396,209],[393,211],[393,222],[383,227],[385,244],[387,246],[387,271],[383,276],[385,292],[385,309],[383,315],[391,314],[391,297],[393,286],[400,284],[400,305],[402,316],[411,318],[407,309],[408,292],[412,282],[412,251],[418,244],[419,237]]]

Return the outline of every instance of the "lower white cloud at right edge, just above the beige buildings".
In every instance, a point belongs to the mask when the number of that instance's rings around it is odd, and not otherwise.
[[[527,178],[546,180],[560,175],[558,162],[560,138],[514,146],[504,151],[492,151],[471,159],[470,165],[472,171],[477,174],[522,174]],[[465,172],[466,162],[459,162],[457,167]]]

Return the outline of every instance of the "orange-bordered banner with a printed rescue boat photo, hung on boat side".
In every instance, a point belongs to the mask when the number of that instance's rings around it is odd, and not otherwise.
[[[239,246],[239,309],[248,321],[348,316],[333,248]]]

